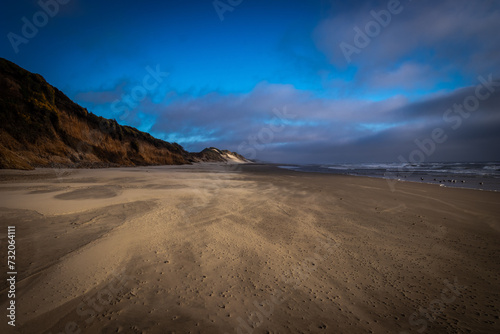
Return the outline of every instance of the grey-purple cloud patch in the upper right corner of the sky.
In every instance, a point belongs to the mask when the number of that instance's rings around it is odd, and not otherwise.
[[[340,44],[356,46],[354,28],[365,31],[367,24],[375,21],[371,12],[386,11],[390,2],[365,2],[357,11],[334,13],[315,31],[318,47],[333,64],[346,67],[348,63]],[[500,40],[496,36],[500,29],[498,2],[400,3],[400,13],[392,14],[390,23],[381,28],[380,34],[369,38],[366,47],[358,48],[359,54],[352,54],[352,64],[360,69],[359,80],[393,87],[419,82],[427,86],[437,82],[422,80],[428,78],[430,72],[441,76],[462,73],[473,78],[480,73],[498,71],[494,61],[500,55]],[[405,71],[409,72],[408,76],[404,75]],[[388,78],[380,78],[384,73]]]

